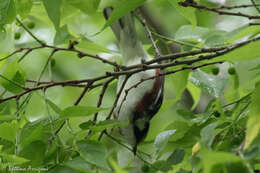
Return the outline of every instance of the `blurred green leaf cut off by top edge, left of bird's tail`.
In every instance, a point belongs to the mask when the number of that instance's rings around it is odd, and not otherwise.
[[[66,2],[86,14],[94,14],[100,0],[66,0]]]

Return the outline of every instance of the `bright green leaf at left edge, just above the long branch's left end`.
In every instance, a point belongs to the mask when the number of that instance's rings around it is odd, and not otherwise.
[[[12,93],[18,94],[23,91],[20,86],[24,86],[26,81],[26,74],[20,68],[17,61],[7,65],[5,71],[0,76],[0,84]]]

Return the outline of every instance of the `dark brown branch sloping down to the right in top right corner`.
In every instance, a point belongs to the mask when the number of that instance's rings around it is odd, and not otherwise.
[[[248,19],[260,19],[260,16],[249,15],[249,14],[245,14],[245,13],[241,13],[241,12],[223,11],[223,10],[220,10],[219,8],[210,8],[210,7],[206,7],[203,5],[198,5],[197,3],[179,2],[179,5],[181,5],[183,7],[193,7],[193,8],[197,8],[200,10],[211,11],[214,13],[218,13],[219,15],[239,16],[239,17],[245,17]]]

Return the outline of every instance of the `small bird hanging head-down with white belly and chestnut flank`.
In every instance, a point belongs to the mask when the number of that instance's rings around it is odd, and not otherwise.
[[[113,12],[113,7],[106,7],[103,10],[106,20]],[[131,11],[114,23],[110,27],[119,43],[124,66],[131,66],[151,60],[151,56],[144,50],[141,41],[138,39],[134,13]],[[132,147],[136,155],[138,144],[146,137],[150,121],[159,111],[163,102],[164,76],[161,75],[163,69],[150,69],[135,73],[127,78],[119,76],[117,83],[117,93],[123,90],[118,99],[118,104],[114,109],[114,117],[128,125],[119,127],[119,132]],[[144,80],[155,76],[151,80]],[[144,80],[137,87],[133,87],[138,82]],[[133,87],[133,88],[131,88]],[[130,90],[128,90],[131,88]],[[128,90],[128,92],[125,92]]]

